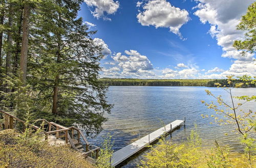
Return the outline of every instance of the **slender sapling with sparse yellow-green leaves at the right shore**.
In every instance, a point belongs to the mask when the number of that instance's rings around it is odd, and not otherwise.
[[[206,94],[209,96],[214,97],[218,104],[215,104],[213,101],[207,103],[205,101],[201,101],[205,104],[209,109],[214,109],[216,111],[216,115],[211,115],[214,118],[215,122],[220,125],[230,125],[231,128],[235,128],[233,131],[237,131],[238,137],[241,139],[241,144],[245,147],[245,153],[248,158],[248,165],[251,167],[252,160],[254,156],[252,154],[255,152],[255,117],[256,112],[252,110],[242,110],[238,109],[240,106],[244,105],[246,102],[256,100],[255,96],[239,96],[233,97],[231,92],[231,85],[232,82],[235,80],[233,76],[227,76],[228,85],[229,87],[222,86],[220,83],[216,83],[216,86],[221,87],[224,89],[229,95],[231,99],[231,104],[227,103],[225,100],[222,99],[222,96],[215,96],[209,90],[205,90]],[[255,83],[255,78],[250,76],[242,76],[238,77],[240,80],[244,81],[241,83],[236,84],[236,88],[240,88],[246,84]],[[246,85],[247,85],[246,84]],[[234,98],[239,100],[244,100],[244,102],[239,102],[234,104]],[[201,115],[203,118],[209,117],[208,115]]]

